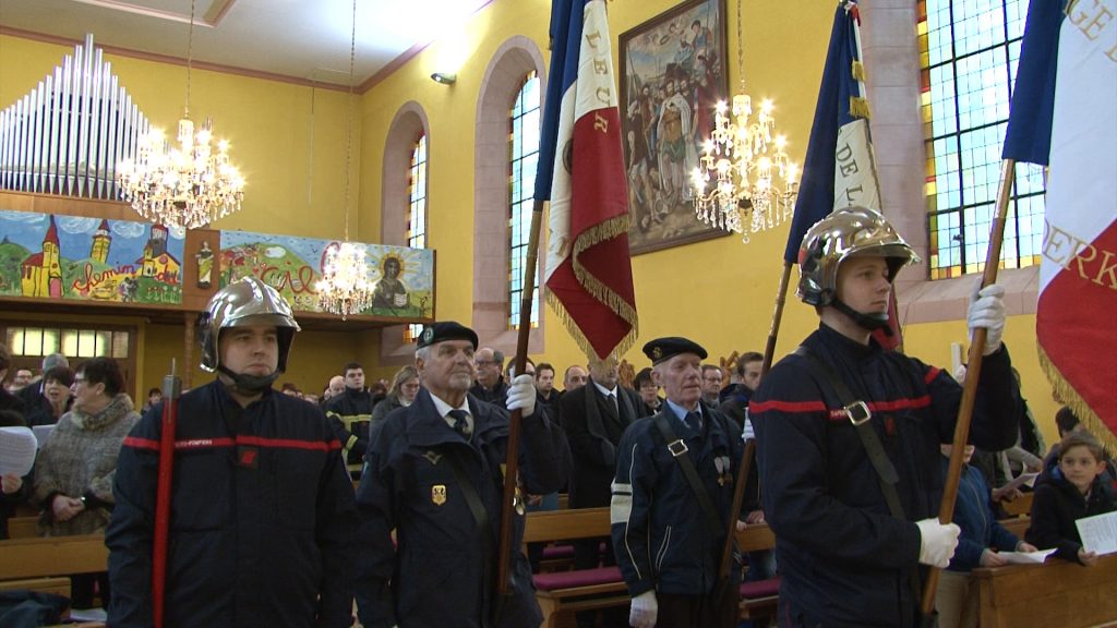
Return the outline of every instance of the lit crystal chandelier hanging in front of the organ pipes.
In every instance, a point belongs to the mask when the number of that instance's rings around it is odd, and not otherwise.
[[[204,227],[240,209],[245,179],[229,161],[229,143],[216,142],[212,122],[194,132],[190,120],[190,74],[194,40],[194,3],[190,3],[187,49],[187,105],[179,121],[178,145],[159,129],[142,135],[136,159],[116,166],[124,200],[145,219],[183,229]]]

